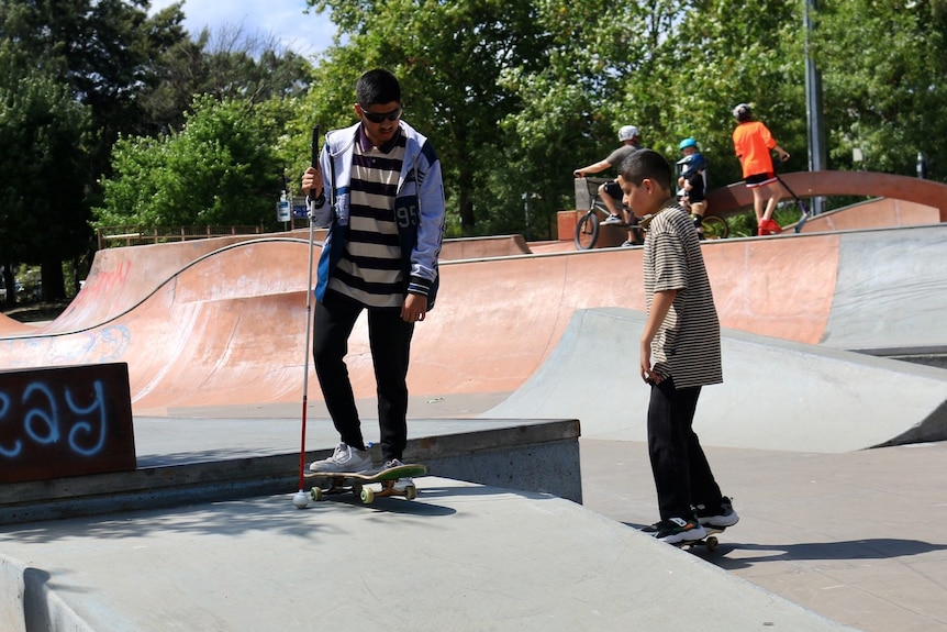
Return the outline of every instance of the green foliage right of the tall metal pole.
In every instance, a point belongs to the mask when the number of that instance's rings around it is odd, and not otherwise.
[[[851,0],[818,12],[829,163],[914,175],[918,152],[947,179],[944,2]],[[853,149],[864,162],[853,162]]]

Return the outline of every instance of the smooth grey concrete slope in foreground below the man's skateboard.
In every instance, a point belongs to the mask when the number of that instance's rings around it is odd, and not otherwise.
[[[7,632],[848,629],[576,503],[417,483],[411,502],[336,497],[297,510],[283,495],[2,529],[0,550],[26,566],[27,621],[0,609],[0,622]]]

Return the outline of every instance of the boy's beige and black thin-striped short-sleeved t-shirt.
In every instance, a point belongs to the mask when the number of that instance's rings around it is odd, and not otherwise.
[[[645,236],[644,264],[648,311],[655,292],[678,291],[651,342],[655,372],[673,377],[677,388],[722,382],[720,321],[700,240],[687,211],[671,204],[654,217]]]

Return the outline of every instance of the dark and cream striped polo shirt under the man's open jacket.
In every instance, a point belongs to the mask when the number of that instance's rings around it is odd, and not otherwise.
[[[400,308],[404,302],[401,245],[394,222],[398,178],[404,162],[404,135],[372,146],[358,130],[345,251],[328,289],[370,308]]]

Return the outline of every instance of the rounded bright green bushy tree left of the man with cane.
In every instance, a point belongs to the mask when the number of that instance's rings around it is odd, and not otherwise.
[[[97,225],[276,224],[282,163],[279,101],[199,97],[180,132],[121,138]]]

